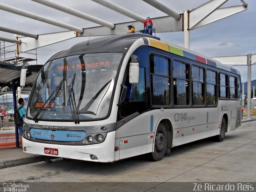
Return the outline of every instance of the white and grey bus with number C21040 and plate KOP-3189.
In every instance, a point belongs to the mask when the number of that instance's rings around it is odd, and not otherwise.
[[[161,160],[174,146],[222,141],[240,126],[240,84],[236,69],[155,36],[81,42],[38,73],[23,150],[96,162]]]

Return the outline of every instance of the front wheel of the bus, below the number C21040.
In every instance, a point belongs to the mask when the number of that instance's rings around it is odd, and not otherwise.
[[[150,154],[150,158],[154,161],[159,161],[164,157],[167,146],[167,134],[164,124],[159,123],[156,130],[154,152]]]

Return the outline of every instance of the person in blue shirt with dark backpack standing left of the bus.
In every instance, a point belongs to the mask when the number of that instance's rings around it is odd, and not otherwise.
[[[25,120],[26,110],[24,108],[24,99],[23,98],[19,98],[18,103],[19,103],[19,106],[17,107],[16,110],[19,113],[16,112],[16,114],[14,114],[14,121],[15,121],[15,124],[18,126],[18,129],[19,129],[20,142],[21,142],[21,146],[22,146],[22,129],[23,129],[23,123],[24,123],[24,120]]]

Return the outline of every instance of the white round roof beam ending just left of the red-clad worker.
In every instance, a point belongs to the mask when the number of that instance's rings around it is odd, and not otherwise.
[[[36,0],[38,1],[38,0]],[[146,18],[134,13],[134,12],[131,12],[130,10],[127,10],[126,8],[123,8],[117,4],[114,4],[113,2],[109,1],[109,0],[92,0],[98,4],[101,4],[107,8],[110,8],[120,14],[123,14],[125,16],[128,16],[136,21],[139,21],[139,22],[142,22],[144,23],[144,21],[146,20]]]

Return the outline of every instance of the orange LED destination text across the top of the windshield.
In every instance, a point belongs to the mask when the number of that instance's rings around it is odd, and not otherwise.
[[[85,68],[100,68],[100,67],[109,67],[110,62],[95,62],[95,63],[88,63],[88,64],[77,64],[77,65],[65,65],[65,66],[57,66],[58,71],[65,71],[65,70],[75,70],[75,69],[85,69]]]

